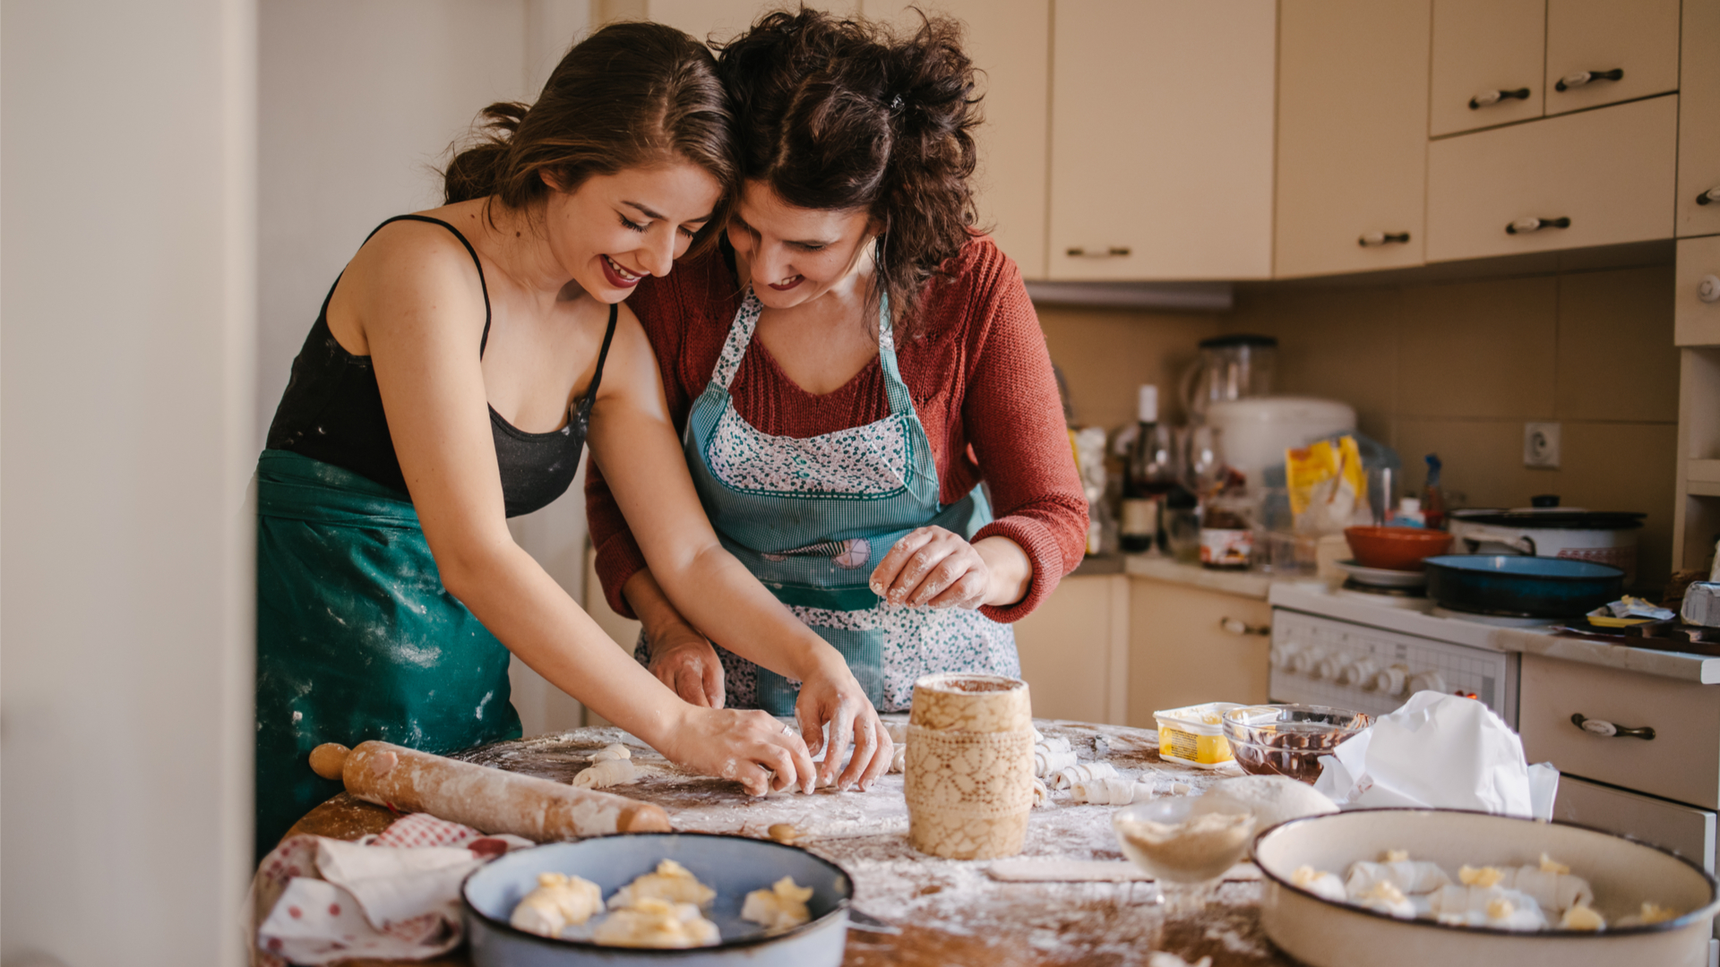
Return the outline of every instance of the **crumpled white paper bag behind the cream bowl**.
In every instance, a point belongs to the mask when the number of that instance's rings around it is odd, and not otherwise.
[[[1324,771],[1314,788],[1350,809],[1477,809],[1551,819],[1558,791],[1558,769],[1524,762],[1522,740],[1493,709],[1440,692],[1410,695],[1319,762]]]

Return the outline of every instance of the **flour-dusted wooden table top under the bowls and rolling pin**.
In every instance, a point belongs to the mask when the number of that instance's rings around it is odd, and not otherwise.
[[[1125,774],[1140,774],[1168,788],[1182,781],[1204,788],[1225,774],[1189,769],[1158,757],[1158,735],[1121,726],[1039,723],[1047,735],[1070,738],[1080,759],[1106,761]],[[590,754],[611,742],[633,748],[642,767],[636,785],[616,791],[669,810],[676,829],[764,836],[776,822],[791,822],[802,843],[850,872],[855,908],[901,929],[900,934],[850,929],[845,967],[944,967],[987,964],[1132,965],[1146,964],[1163,905],[1149,883],[999,883],[989,862],[927,857],[908,847],[901,776],[886,776],[870,791],[746,797],[734,783],[681,773],[638,740],[612,728],[504,742],[459,757],[499,769],[568,781]],[[1023,857],[1121,860],[1111,836],[1111,807],[1075,805],[1068,793],[1035,809]],[[387,809],[346,793],[301,819],[291,835],[313,833],[356,840],[380,833],[396,819]],[[1225,883],[1219,900],[1192,921],[1170,922],[1163,948],[1189,962],[1211,955],[1214,967],[1287,967],[1261,934],[1261,883]],[[404,962],[354,960],[361,967]],[[464,950],[432,967],[470,967]]]

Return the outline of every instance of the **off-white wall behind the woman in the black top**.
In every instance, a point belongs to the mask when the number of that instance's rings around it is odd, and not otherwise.
[[[442,203],[449,145],[492,102],[531,102],[583,36],[588,0],[263,0],[255,420],[261,439],[323,296],[390,215]],[[581,599],[583,473],[511,521]],[[580,724],[580,705],[519,661],[526,735]]]

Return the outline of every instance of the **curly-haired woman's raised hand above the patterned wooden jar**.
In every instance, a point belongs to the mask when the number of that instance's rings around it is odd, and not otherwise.
[[[922,527],[872,570],[872,592],[891,604],[924,607],[1006,606],[1034,576],[1027,554],[1006,537],[968,544],[960,533]]]

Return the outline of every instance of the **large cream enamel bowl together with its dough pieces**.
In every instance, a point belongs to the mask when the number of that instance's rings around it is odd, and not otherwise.
[[[1706,967],[1715,878],[1576,826],[1447,809],[1311,816],[1254,840],[1261,927],[1312,967]]]

